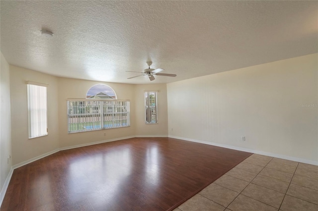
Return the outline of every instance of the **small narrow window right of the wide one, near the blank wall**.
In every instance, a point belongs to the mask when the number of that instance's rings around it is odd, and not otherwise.
[[[145,122],[155,124],[158,122],[157,116],[157,91],[145,91]]]

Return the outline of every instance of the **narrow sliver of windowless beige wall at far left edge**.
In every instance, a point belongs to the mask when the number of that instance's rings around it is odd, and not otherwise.
[[[0,67],[0,190],[3,188],[12,166],[11,160],[11,119],[10,119],[10,81],[9,64],[1,53]],[[1,191],[1,194],[2,193]],[[3,195],[0,199],[3,199]]]

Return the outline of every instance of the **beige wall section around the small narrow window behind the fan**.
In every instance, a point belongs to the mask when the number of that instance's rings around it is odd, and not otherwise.
[[[144,91],[158,91],[158,124],[145,123]],[[167,88],[166,84],[140,84],[135,85],[136,109],[136,135],[166,136],[168,134],[167,115]]]

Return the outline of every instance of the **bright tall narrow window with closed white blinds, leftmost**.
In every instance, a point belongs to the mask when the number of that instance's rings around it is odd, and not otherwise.
[[[29,138],[48,134],[47,86],[27,81]]]

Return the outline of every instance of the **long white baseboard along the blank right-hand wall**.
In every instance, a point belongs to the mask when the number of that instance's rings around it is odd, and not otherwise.
[[[207,145],[212,145],[212,146],[217,146],[217,147],[223,147],[223,148],[228,148],[232,150],[239,150],[243,152],[248,152],[248,153],[255,153],[263,156],[269,156],[269,157],[274,157],[274,158],[281,158],[281,159],[288,159],[288,160],[293,160],[296,162],[303,162],[303,163],[308,163],[312,165],[318,165],[318,161],[315,160],[309,160],[309,159],[304,159],[304,158],[296,158],[296,157],[291,157],[291,156],[284,156],[284,155],[279,155],[279,154],[274,154],[274,153],[268,153],[268,152],[263,152],[263,151],[258,151],[258,150],[252,150],[252,149],[247,149],[247,148],[241,148],[241,147],[235,147],[235,146],[230,146],[230,145],[225,145],[225,144],[220,144],[220,143],[214,143],[214,142],[207,142],[207,141],[201,141],[201,140],[196,140],[196,139],[188,139],[184,137],[178,137],[178,136],[168,136],[169,138],[174,138],[174,139],[180,139],[184,141],[191,141],[191,142],[197,142],[201,144],[207,144]]]

